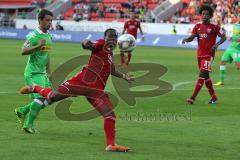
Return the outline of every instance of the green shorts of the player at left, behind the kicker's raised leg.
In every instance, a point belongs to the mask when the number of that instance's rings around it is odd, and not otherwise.
[[[42,87],[51,87],[51,83],[46,74],[33,74],[31,76],[25,76],[25,84],[28,86],[39,85]],[[32,99],[43,98],[38,93],[31,93],[29,97]]]

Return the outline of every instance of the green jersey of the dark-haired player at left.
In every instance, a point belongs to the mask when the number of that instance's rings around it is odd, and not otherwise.
[[[30,32],[26,36],[26,41],[23,48],[38,45],[41,40],[46,40],[46,44],[36,49],[30,54],[25,68],[24,75],[31,76],[33,74],[46,74],[46,66],[49,60],[49,50],[52,46],[52,35],[50,33],[43,33],[39,28]]]

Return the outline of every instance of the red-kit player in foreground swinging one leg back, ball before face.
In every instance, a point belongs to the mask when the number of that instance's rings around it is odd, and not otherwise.
[[[109,96],[104,88],[109,75],[113,75],[131,82],[134,79],[127,74],[115,70],[112,61],[113,49],[117,44],[117,31],[107,29],[104,39],[95,42],[85,40],[84,49],[92,51],[88,64],[73,78],[63,82],[53,91],[51,88],[41,86],[25,86],[20,90],[22,94],[39,93],[49,102],[56,102],[70,96],[85,96],[92,106],[104,117],[104,131],[106,136],[106,151],[127,152],[128,147],[115,143],[115,113]]]

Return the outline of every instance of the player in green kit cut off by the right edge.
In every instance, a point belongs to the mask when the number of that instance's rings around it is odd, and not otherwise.
[[[233,25],[233,35],[230,38],[231,45],[224,52],[220,64],[220,81],[216,86],[224,85],[226,64],[235,62],[237,70],[240,70],[240,14],[238,14],[238,23]]]

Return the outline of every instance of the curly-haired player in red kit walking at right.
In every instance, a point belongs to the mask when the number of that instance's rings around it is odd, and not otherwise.
[[[218,25],[210,23],[213,12],[210,6],[201,6],[200,14],[202,15],[202,23],[196,24],[192,30],[192,35],[182,41],[184,44],[185,42],[192,42],[195,37],[198,39],[197,58],[200,73],[194,92],[192,96],[187,99],[187,103],[189,104],[194,103],[204,83],[211,95],[209,104],[216,104],[218,100],[212,85],[212,80],[209,77],[209,72],[211,71],[211,64],[215,57],[215,51],[218,46],[226,40],[226,36]],[[217,36],[221,37],[221,39],[216,43]]]

